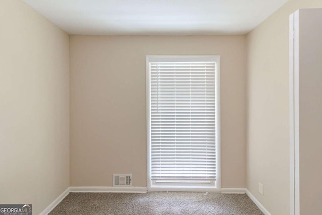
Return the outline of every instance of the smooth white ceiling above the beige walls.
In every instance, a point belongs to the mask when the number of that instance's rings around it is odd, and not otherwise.
[[[68,34],[245,34],[288,0],[23,0]]]

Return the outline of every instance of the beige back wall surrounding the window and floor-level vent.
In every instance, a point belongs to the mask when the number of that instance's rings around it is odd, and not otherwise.
[[[145,55],[221,55],[221,183],[246,186],[245,36],[70,36],[70,185],[146,187]]]

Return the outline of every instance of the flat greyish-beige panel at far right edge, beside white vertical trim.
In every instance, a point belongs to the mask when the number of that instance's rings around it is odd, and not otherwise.
[[[296,139],[299,139],[300,213],[322,211],[322,9],[300,10],[299,29],[294,45],[299,50],[294,77]],[[314,25],[318,23],[319,25]],[[299,38],[299,41],[298,39]],[[298,95],[298,97],[296,97]],[[299,123],[298,123],[299,122]]]

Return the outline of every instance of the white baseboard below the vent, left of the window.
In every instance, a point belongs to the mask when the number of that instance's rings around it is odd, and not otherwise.
[[[145,193],[146,187],[69,187],[70,192]]]

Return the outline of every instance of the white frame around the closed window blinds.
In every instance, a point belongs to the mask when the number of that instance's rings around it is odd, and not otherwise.
[[[152,183],[151,181],[151,107],[150,107],[150,62],[151,61],[215,61],[215,127],[216,127],[216,181],[215,183]],[[146,128],[147,128],[147,190],[148,191],[220,191],[220,56],[219,55],[146,55]]]

